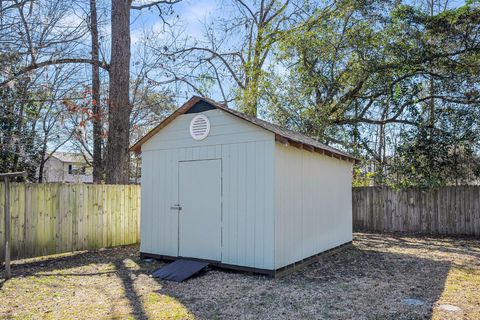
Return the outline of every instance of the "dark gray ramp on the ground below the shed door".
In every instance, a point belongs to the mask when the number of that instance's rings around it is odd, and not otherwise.
[[[182,282],[207,266],[208,262],[179,259],[156,270],[152,276],[154,278]]]

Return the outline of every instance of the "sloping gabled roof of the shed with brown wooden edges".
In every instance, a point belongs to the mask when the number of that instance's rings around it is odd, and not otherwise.
[[[176,117],[179,115],[182,115],[186,113],[190,108],[192,108],[195,104],[198,102],[203,101],[206,102],[213,107],[223,110],[225,112],[228,112],[229,114],[232,114],[238,118],[241,118],[245,121],[248,121],[254,125],[257,125],[267,131],[270,131],[275,134],[275,140],[285,143],[285,144],[290,144],[294,147],[300,148],[300,149],[306,149],[309,151],[315,151],[319,152],[337,159],[345,160],[345,161],[351,161],[351,162],[356,162],[357,159],[355,159],[353,156],[350,154],[343,152],[341,150],[332,148],[330,146],[327,146],[315,139],[312,139],[304,134],[283,128],[279,125],[249,116],[247,114],[244,114],[242,112],[239,112],[237,110],[230,109],[226,107],[223,104],[220,104],[216,101],[213,101],[211,99],[207,98],[202,98],[198,96],[192,97],[190,100],[188,100],[183,106],[178,108],[175,112],[173,112],[169,117],[167,117],[165,120],[163,120],[159,125],[157,125],[155,128],[150,130],[145,136],[143,136],[140,140],[138,140],[132,147],[130,147],[129,151],[134,151],[134,152],[141,152],[141,146],[147,142],[151,137],[153,137],[155,134],[157,134],[161,129],[163,129],[165,126],[167,126],[170,122],[172,122]]]

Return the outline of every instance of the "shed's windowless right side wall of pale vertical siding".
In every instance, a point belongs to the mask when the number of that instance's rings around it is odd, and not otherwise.
[[[352,240],[352,165],[275,144],[275,268]]]

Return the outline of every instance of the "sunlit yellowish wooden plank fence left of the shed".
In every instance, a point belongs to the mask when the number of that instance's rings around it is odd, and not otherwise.
[[[10,184],[12,259],[139,242],[138,185]],[[4,259],[0,184],[0,261]]]

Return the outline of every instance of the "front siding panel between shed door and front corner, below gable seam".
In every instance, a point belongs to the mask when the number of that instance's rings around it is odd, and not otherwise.
[[[273,269],[273,153],[273,140],[222,147],[224,263]]]

